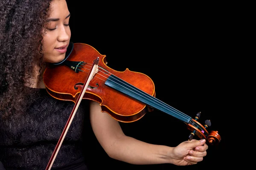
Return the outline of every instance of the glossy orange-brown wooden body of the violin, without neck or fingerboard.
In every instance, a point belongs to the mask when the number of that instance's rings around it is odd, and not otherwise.
[[[73,67],[67,65],[51,65],[44,71],[43,79],[47,92],[56,99],[76,102],[84,80],[88,76],[90,63],[99,57],[99,70],[90,80],[83,99],[99,102],[102,112],[108,113],[120,122],[134,122],[142,118],[148,111],[153,111],[143,102],[124,95],[115,89],[105,85],[111,74],[125,82],[140,88],[145,93],[155,96],[154,82],[145,74],[130,71],[115,71],[107,66],[106,56],[100,54],[95,48],[84,43],[75,43],[68,61],[83,61],[83,68],[78,73]],[[54,74],[52,74],[54,73]]]

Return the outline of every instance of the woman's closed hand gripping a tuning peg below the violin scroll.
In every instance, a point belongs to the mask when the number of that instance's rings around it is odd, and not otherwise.
[[[205,139],[185,141],[180,143],[173,150],[173,164],[176,165],[192,165],[203,161],[203,157],[207,155],[208,145]]]

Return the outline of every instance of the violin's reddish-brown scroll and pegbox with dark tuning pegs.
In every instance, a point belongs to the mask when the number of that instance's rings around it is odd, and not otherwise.
[[[192,140],[196,135],[200,139],[207,139],[207,142],[211,145],[221,142],[221,136],[218,134],[218,131],[212,130],[211,133],[208,133],[206,130],[207,127],[211,126],[210,120],[206,120],[204,126],[197,121],[200,118],[200,115],[201,112],[198,112],[195,119],[191,119],[191,121],[187,124],[187,128],[192,131],[189,134],[189,140]]]

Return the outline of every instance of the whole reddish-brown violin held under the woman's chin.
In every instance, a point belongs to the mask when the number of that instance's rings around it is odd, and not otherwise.
[[[102,112],[119,122],[137,121],[145,113],[156,109],[186,123],[187,129],[191,131],[189,140],[198,136],[211,145],[221,141],[218,131],[207,131],[207,127],[211,126],[209,120],[205,121],[205,125],[198,122],[200,112],[192,119],[157,99],[154,82],[147,75],[128,68],[125,71],[113,70],[107,66],[106,55],[88,44],[70,42],[67,51],[63,61],[49,65],[44,71],[44,84],[52,97],[72,101],[75,107],[78,107],[77,101],[81,99],[96,101]],[[67,123],[66,131],[70,123]],[[58,144],[61,141],[63,138]]]

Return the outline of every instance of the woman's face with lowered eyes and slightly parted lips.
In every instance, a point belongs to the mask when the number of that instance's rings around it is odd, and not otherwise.
[[[53,0],[51,13],[47,20],[46,34],[43,38],[44,60],[61,62],[65,58],[70,42],[70,12],[66,0]]]

